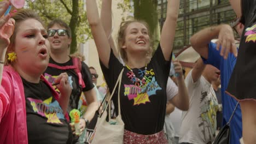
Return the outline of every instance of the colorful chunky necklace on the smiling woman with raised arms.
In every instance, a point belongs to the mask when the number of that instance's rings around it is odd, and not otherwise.
[[[145,66],[144,70],[139,69],[139,76],[142,77],[142,80],[136,77],[136,75],[133,73],[132,69],[128,67],[126,64],[126,68],[129,69],[130,71],[126,74],[128,78],[135,84],[135,86],[138,86],[140,88],[144,87],[146,84],[146,76],[148,75],[147,73],[147,64]]]

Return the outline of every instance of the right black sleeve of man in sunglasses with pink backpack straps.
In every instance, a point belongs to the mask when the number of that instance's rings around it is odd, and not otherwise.
[[[83,92],[87,92],[90,91],[92,88],[94,88],[94,84],[92,83],[91,80],[91,73],[89,70],[89,67],[87,64],[85,64],[84,62],[81,62],[82,64],[82,76],[83,76],[83,80],[84,80],[84,84],[85,84],[85,88],[83,88]]]

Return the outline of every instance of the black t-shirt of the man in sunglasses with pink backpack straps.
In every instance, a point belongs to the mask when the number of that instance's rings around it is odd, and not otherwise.
[[[72,58],[66,63],[57,63],[52,58],[50,58],[49,63],[53,63],[56,65],[59,65],[61,67],[65,67],[66,65],[73,65]],[[81,88],[79,86],[79,79],[77,76],[77,73],[75,73],[74,69],[69,70],[61,70],[53,67],[47,67],[47,69],[44,71],[44,77],[46,80],[48,80],[50,83],[54,83],[54,80],[57,76],[59,76],[61,73],[67,73],[68,74],[68,80],[69,84],[72,88],[72,93],[69,99],[69,107],[68,112],[73,109],[78,109],[78,103],[80,99],[80,95],[82,93]],[[90,91],[92,88],[94,88],[94,85],[91,81],[91,73],[89,71],[88,66],[82,62],[82,77],[85,83],[85,88],[83,88],[83,92]],[[53,86],[55,90],[59,93],[59,89],[56,88],[56,86]]]

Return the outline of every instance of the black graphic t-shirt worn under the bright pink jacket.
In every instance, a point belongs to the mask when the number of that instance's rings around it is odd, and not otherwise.
[[[72,143],[72,132],[60,104],[45,82],[22,79],[26,97],[28,143]]]

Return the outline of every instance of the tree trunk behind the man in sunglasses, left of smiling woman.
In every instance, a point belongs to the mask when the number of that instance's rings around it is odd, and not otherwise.
[[[79,10],[78,10],[78,0],[72,0],[72,15],[71,15],[71,20],[69,22],[69,27],[71,28],[71,37],[72,37],[72,42],[70,46],[70,54],[74,53],[77,51],[77,37],[75,35],[77,31],[77,27],[79,26]]]

